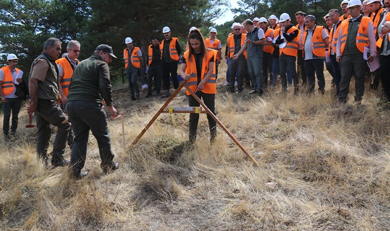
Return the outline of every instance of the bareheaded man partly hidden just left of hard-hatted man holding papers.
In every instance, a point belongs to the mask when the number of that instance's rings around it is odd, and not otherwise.
[[[340,12],[338,9],[329,10],[329,18],[333,23],[332,30],[329,32],[329,41],[330,41],[330,63],[332,63],[333,73],[334,73],[334,83],[336,86],[336,97],[340,93],[340,81],[341,81],[341,66],[336,61],[336,45],[340,31],[340,24],[343,22],[340,19]]]

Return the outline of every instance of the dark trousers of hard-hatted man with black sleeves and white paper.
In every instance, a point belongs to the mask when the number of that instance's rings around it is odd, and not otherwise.
[[[282,79],[282,90],[287,90],[287,71],[291,74],[293,77],[294,82],[294,91],[298,92],[298,74],[295,66],[297,58],[295,56],[290,55],[280,55],[279,56],[279,67],[280,67],[280,78]]]

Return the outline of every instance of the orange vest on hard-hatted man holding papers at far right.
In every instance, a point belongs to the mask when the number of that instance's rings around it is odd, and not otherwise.
[[[369,17],[365,17],[365,16],[362,17],[362,20],[360,21],[360,26],[358,29],[358,34],[356,36],[356,46],[360,50],[360,52],[362,52],[362,53],[364,51],[364,46],[368,45],[367,27],[368,27],[369,21],[371,21]],[[342,33],[342,36],[340,38],[340,40],[341,40],[341,54],[343,54],[345,44],[347,42],[348,25],[349,25],[348,20],[343,21],[340,25],[341,33]]]

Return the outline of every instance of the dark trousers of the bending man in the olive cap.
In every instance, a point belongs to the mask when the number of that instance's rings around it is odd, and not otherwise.
[[[69,119],[72,120],[74,142],[70,164],[75,176],[80,176],[85,164],[89,130],[92,131],[99,146],[101,167],[112,163],[114,154],[111,149],[110,131],[107,126],[107,115],[99,103],[86,101],[68,101],[66,104]]]

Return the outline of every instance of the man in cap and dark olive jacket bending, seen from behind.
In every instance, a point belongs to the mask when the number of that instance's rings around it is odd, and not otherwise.
[[[89,130],[92,131],[99,145],[103,173],[107,174],[119,168],[118,162],[113,162],[110,131],[108,130],[106,112],[102,109],[104,99],[112,117],[116,117],[116,109],[112,106],[112,91],[110,70],[112,48],[106,44],[96,47],[94,54],[80,62],[74,69],[69,86],[66,111],[72,121],[74,140],[70,156],[72,175],[81,179],[88,171],[81,171],[87,155]]]

